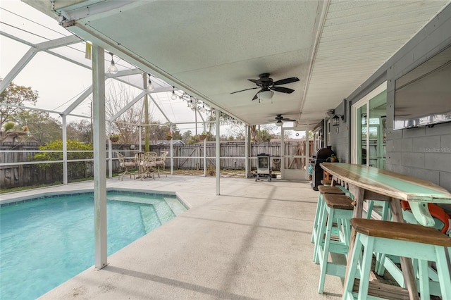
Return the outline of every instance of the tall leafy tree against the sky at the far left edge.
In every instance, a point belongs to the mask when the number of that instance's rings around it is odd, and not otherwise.
[[[1,82],[1,80],[0,80]],[[24,106],[27,103],[35,105],[37,102],[38,93],[33,91],[31,87],[23,87],[15,85],[11,82],[6,89],[0,94],[0,103],[12,104],[17,106]],[[0,128],[6,122],[15,122],[16,115],[24,111],[24,108],[14,106],[0,106]]]

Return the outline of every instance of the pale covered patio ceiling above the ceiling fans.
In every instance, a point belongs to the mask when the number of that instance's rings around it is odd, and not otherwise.
[[[315,125],[450,1],[25,0],[103,46],[248,124],[278,113]],[[272,101],[247,79],[298,77]]]

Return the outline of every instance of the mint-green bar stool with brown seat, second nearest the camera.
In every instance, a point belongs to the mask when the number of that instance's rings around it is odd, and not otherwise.
[[[323,202],[316,235],[316,260],[319,261],[321,269],[318,286],[320,294],[323,294],[324,291],[326,275],[345,277],[346,265],[329,262],[328,256],[329,253],[347,256],[351,236],[350,219],[354,213],[354,205],[352,205],[352,199],[349,196],[323,194]],[[333,235],[337,235],[338,238],[333,237]]]

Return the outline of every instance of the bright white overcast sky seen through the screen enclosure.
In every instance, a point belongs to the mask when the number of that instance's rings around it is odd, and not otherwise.
[[[19,29],[18,29],[19,28]],[[34,44],[44,42],[47,39],[56,39],[63,36],[71,35],[63,27],[59,26],[57,21],[44,15],[35,8],[24,4],[20,0],[0,0],[0,30],[8,34],[25,39]],[[30,34],[32,32],[32,34]],[[33,35],[34,34],[34,35]],[[39,37],[40,36],[40,37]],[[44,39],[42,37],[46,37]],[[30,49],[30,46],[16,42],[13,39],[0,35],[0,77],[4,78],[12,68],[18,63],[20,58]],[[75,61],[80,61],[85,65],[90,65],[91,62],[85,58],[85,45],[75,44],[68,47],[57,49],[56,52],[64,54]],[[106,54],[106,61],[111,59],[111,56]],[[118,68],[125,69],[129,67],[128,63],[121,61],[121,58],[115,56],[115,62]],[[109,62],[105,63],[105,68],[108,68]],[[142,79],[138,79],[141,80]],[[32,60],[20,71],[14,78],[13,82],[16,85],[25,87],[32,87],[39,93],[37,101],[38,108],[44,108],[51,111],[63,111],[69,106],[78,96],[87,89],[92,83],[91,70],[82,68],[61,58],[39,52]],[[110,80],[111,82],[111,80]],[[106,82],[106,89],[108,89],[109,81]],[[140,93],[139,90],[131,88],[133,95]],[[108,91],[106,91],[108,94]],[[171,121],[177,123],[194,122],[194,112],[187,108],[187,103],[184,101],[173,101],[169,98],[170,93],[159,93],[155,96],[160,102],[163,110],[166,110],[166,115],[173,118]],[[80,106],[73,111],[78,115],[89,116],[90,98],[83,101]],[[158,111],[156,108],[151,108],[151,111]],[[58,115],[52,114],[53,118],[58,118]],[[166,123],[161,115],[154,117],[160,120],[161,123]],[[68,122],[78,120],[77,117],[68,118]],[[200,120],[200,119],[198,119]],[[185,132],[191,130],[195,131],[193,125],[178,125],[178,128]],[[198,125],[198,131],[202,132],[202,125]],[[280,133],[280,130],[276,130]],[[227,129],[221,128],[221,135],[226,134]]]

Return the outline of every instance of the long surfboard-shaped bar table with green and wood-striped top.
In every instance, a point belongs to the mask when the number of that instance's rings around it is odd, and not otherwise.
[[[412,213],[419,224],[433,226],[434,220],[429,213],[428,203],[451,204],[450,192],[426,180],[350,163],[321,163],[321,168],[333,176],[333,184],[345,182],[349,186],[356,201],[354,218],[362,218],[364,199],[388,198],[393,221],[404,222],[400,200],[405,200],[409,201]],[[355,235],[352,230],[350,253]],[[409,258],[401,258],[401,268],[410,299],[418,299],[415,276]]]

